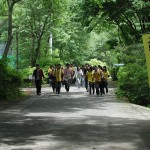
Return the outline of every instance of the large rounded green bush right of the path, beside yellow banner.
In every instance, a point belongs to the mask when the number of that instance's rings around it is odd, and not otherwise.
[[[126,65],[120,67],[117,74],[119,87],[117,95],[127,98],[131,103],[148,106],[150,104],[150,88],[144,50],[138,48],[136,46],[135,49],[133,46],[126,49],[127,52],[123,56]]]

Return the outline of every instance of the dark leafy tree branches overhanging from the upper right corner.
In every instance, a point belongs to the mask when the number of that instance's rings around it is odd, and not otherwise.
[[[145,0],[90,0],[81,3],[81,20],[90,30],[114,24],[125,44],[139,42],[150,31],[150,5]]]

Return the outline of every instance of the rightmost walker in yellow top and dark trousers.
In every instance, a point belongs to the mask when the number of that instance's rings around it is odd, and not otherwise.
[[[106,93],[108,93],[108,77],[110,76],[107,67],[103,67],[103,77],[104,77],[104,89],[106,89]],[[105,91],[104,91],[105,93]]]

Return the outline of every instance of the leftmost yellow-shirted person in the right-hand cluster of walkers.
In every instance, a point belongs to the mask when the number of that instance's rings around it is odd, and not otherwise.
[[[94,78],[93,78],[93,67],[91,66],[89,70],[86,72],[87,80],[89,82],[89,94],[91,95],[91,92],[95,93],[95,87],[94,87]]]

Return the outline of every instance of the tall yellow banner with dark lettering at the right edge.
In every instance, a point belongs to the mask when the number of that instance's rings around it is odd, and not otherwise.
[[[146,56],[148,82],[150,86],[150,34],[143,35],[143,44],[144,44],[144,50],[145,50],[145,56]]]

